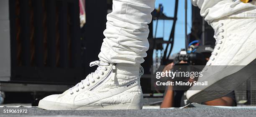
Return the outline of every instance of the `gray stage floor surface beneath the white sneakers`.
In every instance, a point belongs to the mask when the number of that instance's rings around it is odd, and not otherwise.
[[[6,109],[26,109],[26,114],[3,113]],[[0,107],[0,117],[256,117],[256,107],[196,107],[143,110],[42,110],[37,107]]]

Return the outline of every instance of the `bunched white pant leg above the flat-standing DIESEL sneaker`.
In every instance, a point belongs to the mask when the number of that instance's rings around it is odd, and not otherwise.
[[[148,24],[155,0],[113,0],[99,58],[103,62],[140,64],[148,50]]]

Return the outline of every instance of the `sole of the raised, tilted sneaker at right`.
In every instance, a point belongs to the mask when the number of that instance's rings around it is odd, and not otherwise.
[[[210,100],[214,100],[220,97],[225,96],[226,94],[232,92],[236,87],[245,82],[249,76],[253,75],[255,69],[250,69],[253,66],[256,66],[256,50],[241,60],[236,65],[246,65],[241,68],[238,72],[233,72],[231,75],[223,77],[222,79],[216,81],[212,85],[206,87],[204,90],[188,90],[187,91],[187,99],[190,102],[207,102]],[[248,77],[244,77],[244,75]],[[241,78],[243,77],[243,78]],[[213,79],[214,80],[214,79]],[[214,90],[212,90],[214,89]]]

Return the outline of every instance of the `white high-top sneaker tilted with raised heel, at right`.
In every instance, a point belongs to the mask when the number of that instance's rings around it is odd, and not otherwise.
[[[191,102],[206,102],[223,97],[256,73],[256,18],[214,20],[216,45],[197,82],[186,93]],[[252,69],[254,68],[254,69]]]

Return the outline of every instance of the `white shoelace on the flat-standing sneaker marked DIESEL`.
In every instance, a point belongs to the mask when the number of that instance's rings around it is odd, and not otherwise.
[[[73,92],[74,89],[76,89],[76,92],[79,92],[79,86],[82,86],[81,89],[84,89],[84,84],[87,84],[87,86],[90,86],[90,82],[92,83],[95,82],[94,78],[100,79],[99,75],[104,75],[104,72],[108,70],[106,66],[109,66],[110,63],[100,62],[98,60],[94,62],[90,62],[90,67],[95,65],[99,66],[97,67],[97,70],[95,70],[95,72],[90,73],[89,75],[87,75],[87,77],[84,80],[81,80],[81,82],[77,83],[77,85],[69,89],[71,95],[74,93]]]

